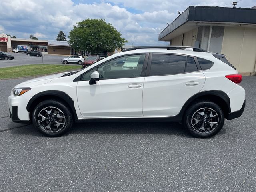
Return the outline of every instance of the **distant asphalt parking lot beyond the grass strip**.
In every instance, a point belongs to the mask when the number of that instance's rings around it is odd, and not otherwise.
[[[19,65],[29,65],[29,64],[62,64],[61,59],[68,56],[62,55],[50,55],[44,54],[44,58],[37,56],[27,56],[26,53],[10,53],[14,56],[14,60],[4,60],[0,59],[1,67],[11,67]],[[62,64],[63,65],[63,64]]]

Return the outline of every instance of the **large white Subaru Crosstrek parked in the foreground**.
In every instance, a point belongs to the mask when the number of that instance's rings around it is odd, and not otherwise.
[[[133,69],[113,66],[138,58]],[[60,136],[74,122],[181,122],[199,138],[218,133],[242,115],[242,75],[222,54],[183,46],[135,47],[76,72],[28,80],[8,98],[14,122]]]

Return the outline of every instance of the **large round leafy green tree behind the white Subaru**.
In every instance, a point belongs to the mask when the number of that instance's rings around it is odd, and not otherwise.
[[[77,26],[73,26],[68,36],[69,44],[76,51],[96,51],[99,54],[99,49],[102,48],[114,52],[127,42],[121,38],[120,32],[103,19],[86,19],[76,24]]]

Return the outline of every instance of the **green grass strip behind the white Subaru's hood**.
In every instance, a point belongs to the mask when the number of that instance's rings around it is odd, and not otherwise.
[[[36,65],[22,65],[15,67],[0,68],[0,79],[40,76],[46,74],[54,74],[58,72],[64,72],[69,70],[80,69],[80,65],[48,65],[48,64],[36,64]]]

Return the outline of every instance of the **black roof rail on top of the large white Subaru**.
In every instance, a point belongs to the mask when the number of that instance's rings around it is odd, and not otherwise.
[[[137,46],[137,47],[132,47],[132,48],[128,48],[125,50],[122,50],[121,52],[124,51],[133,51],[133,50],[137,50],[137,49],[167,49],[167,50],[179,50],[179,49],[186,49],[186,48],[192,48],[193,51],[197,51],[197,52],[208,52],[204,49],[198,48],[198,47],[190,47],[190,46]]]

